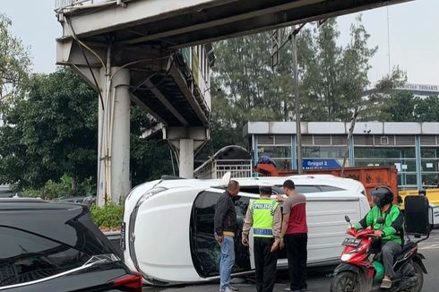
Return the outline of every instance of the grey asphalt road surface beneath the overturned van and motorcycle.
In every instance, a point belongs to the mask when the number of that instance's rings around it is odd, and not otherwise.
[[[427,275],[424,275],[424,292],[436,292],[439,291],[439,230],[435,230],[430,238],[423,243],[419,244],[419,253],[423,253],[426,256],[426,270]],[[308,279],[308,291],[310,292],[328,292],[331,285],[331,271],[333,267],[311,269],[309,271]],[[254,285],[251,279],[234,279],[237,283],[235,287],[239,288],[242,292],[254,291]],[[274,288],[275,292],[284,291],[284,288],[288,287],[288,275],[285,271],[278,273],[278,281]],[[216,292],[218,291],[218,283],[210,283],[206,285],[189,285],[172,288],[153,288],[145,287],[145,292]]]

